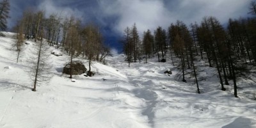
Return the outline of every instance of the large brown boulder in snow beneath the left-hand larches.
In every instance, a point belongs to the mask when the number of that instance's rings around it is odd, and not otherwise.
[[[84,67],[81,61],[72,61],[72,75],[81,75],[86,72],[86,68]],[[70,63],[68,63],[63,68],[63,74],[70,75]]]

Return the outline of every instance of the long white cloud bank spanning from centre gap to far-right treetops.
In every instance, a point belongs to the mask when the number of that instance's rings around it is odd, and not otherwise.
[[[99,1],[103,12],[102,17],[116,15],[115,31],[123,33],[127,26],[136,22],[140,33],[147,29],[154,30],[157,26],[167,28],[172,22],[184,21],[200,23],[204,16],[214,16],[220,22],[229,18],[239,18],[247,14],[249,0],[116,0]]]

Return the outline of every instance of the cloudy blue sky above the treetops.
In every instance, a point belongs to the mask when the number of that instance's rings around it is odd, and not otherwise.
[[[187,25],[200,23],[205,16],[214,16],[225,24],[230,18],[250,17],[251,1],[255,0],[10,0],[8,27],[16,24],[26,8],[44,10],[46,17],[52,13],[73,15],[84,24],[97,24],[106,43],[119,51],[124,29],[134,23],[140,35],[158,26],[166,29],[177,20]]]

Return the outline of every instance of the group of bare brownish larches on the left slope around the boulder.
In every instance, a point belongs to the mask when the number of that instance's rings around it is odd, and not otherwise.
[[[42,72],[40,70],[47,63],[45,62],[45,51],[48,46],[55,46],[63,52],[67,52],[70,56],[70,70],[72,70],[72,61],[78,56],[83,56],[89,61],[88,76],[92,76],[92,60],[104,61],[104,58],[110,54],[109,47],[104,44],[103,36],[100,33],[99,27],[94,24],[83,25],[81,20],[74,17],[61,17],[60,15],[52,14],[45,17],[43,11],[25,10],[21,19],[17,22],[17,26],[13,29],[17,33],[16,47],[18,51],[17,62],[19,60],[19,52],[24,43],[24,38],[37,42],[38,55],[36,59],[31,61],[34,66],[33,75],[35,83],[33,91],[36,91],[36,81],[40,79]],[[44,41],[44,40],[46,41]],[[70,71],[71,73],[72,71]],[[70,74],[72,78],[72,74]]]

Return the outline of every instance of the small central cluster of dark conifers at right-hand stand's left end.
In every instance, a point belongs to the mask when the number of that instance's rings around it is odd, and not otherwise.
[[[147,58],[150,58],[154,53],[157,53],[158,60],[160,61],[161,56],[164,58],[168,49],[166,41],[166,31],[161,27],[154,31],[154,35],[149,29],[145,31],[142,40],[139,36],[136,24],[134,24],[132,28],[125,28],[122,42],[129,66],[131,61],[141,61],[143,56],[146,58],[147,63]]]

